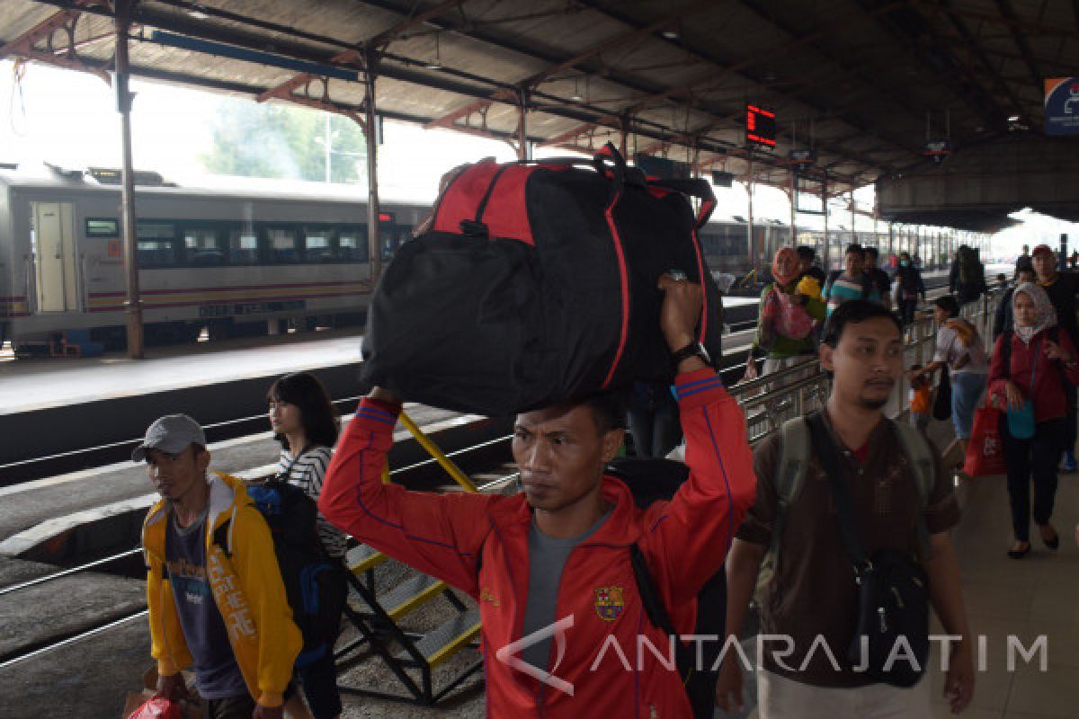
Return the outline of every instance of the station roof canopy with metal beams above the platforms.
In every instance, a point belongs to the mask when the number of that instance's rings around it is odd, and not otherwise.
[[[108,79],[113,6],[4,0],[0,57]],[[753,105],[776,115],[754,179],[789,186],[789,151],[811,148],[831,194],[924,167],[927,139],[1040,134],[1044,79],[1079,68],[1079,0],[140,0],[131,17],[136,77],[360,119],[370,70],[388,119],[514,143],[525,107],[532,142],[625,135],[736,177]]]

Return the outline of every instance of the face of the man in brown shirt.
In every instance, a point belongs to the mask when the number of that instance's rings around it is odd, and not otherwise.
[[[820,362],[834,373],[832,392],[843,403],[879,410],[903,373],[903,341],[886,317],[848,322],[833,349],[820,346]]]

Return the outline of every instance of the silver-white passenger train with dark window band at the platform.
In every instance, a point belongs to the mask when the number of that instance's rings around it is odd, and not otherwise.
[[[0,169],[0,342],[18,349],[87,330],[123,343],[124,259],[115,170],[33,178]],[[136,174],[139,285],[148,344],[364,319],[371,293],[366,197],[309,185],[303,192],[196,190]],[[317,194],[316,194],[317,193]],[[384,201],[386,260],[429,213]],[[746,223],[713,220],[700,233],[716,272],[747,268]],[[754,227],[761,260],[790,227]],[[800,239],[805,236],[800,234]]]

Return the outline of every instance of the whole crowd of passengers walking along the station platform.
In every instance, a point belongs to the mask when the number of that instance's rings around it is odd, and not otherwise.
[[[831,378],[823,409],[804,423],[801,437],[812,441],[802,448],[796,490],[795,450],[784,442],[798,435],[774,432],[750,448],[738,403],[707,355],[693,349],[701,290],[673,275],[659,280],[660,328],[678,374],[658,391],[684,434],[688,479],[669,501],[639,508],[605,473],[625,451],[627,400],[639,397],[603,392],[521,413],[511,441],[521,490],[442,495],[382,480],[402,398],[375,387],[341,428],[326,390],[308,373],[281,377],[267,395],[282,446],[275,479],[317,501],[318,537],[337,571],[347,571],[350,541],[361,542],[477,600],[489,716],[693,717],[712,716],[715,706],[742,708],[745,668],[735,652],[698,667],[710,676],[701,702],[661,650],[634,651],[642,639],[668,646],[667,632],[642,607],[632,558],[640,556],[678,633],[692,632],[698,592],[725,571],[727,635],[742,636],[755,595],[760,634],[791,640],[786,651],[760,656],[760,717],[927,717],[933,682],[925,667],[912,681],[909,673],[866,672],[848,655],[861,591],[851,535],[866,557],[900,557],[904,571],[928,583],[927,603],[943,632],[957,637],[946,648],[943,693],[960,713],[973,695],[974,669],[948,534],[959,521],[953,457],[964,454],[975,407],[994,402],[1007,410],[1000,431],[1014,529],[1008,555],[1032,551],[1032,482],[1039,538],[1057,549],[1057,460],[1075,469],[1079,279],[1058,272],[1046,246],[1021,258],[986,351],[960,317],[960,301],[984,291],[984,278],[970,288],[971,272],[953,268],[959,300],[932,303],[932,361],[910,369],[903,330],[925,301],[925,286],[906,253],[889,277],[876,267],[875,251],[852,245],[844,269],[825,276],[811,249],[783,248],[771,274],[754,342],[761,372],[818,358]],[[937,372],[950,379],[956,435],[943,453],[924,431]],[[757,374],[751,358],[747,375]],[[904,374],[919,431],[884,414]],[[1020,412],[1029,415],[1028,434],[1009,430],[1008,415]],[[677,441],[671,434],[636,435],[637,453],[663,456]],[[209,719],[339,717],[332,652],[298,661],[303,638],[251,485],[210,472],[207,446],[194,419],[167,415],[133,454],[162,497],[144,530],[159,693],[201,701]],[[548,631],[565,618],[564,635]],[[628,661],[604,649],[612,641],[633,652]],[[507,658],[513,647],[520,647],[519,659]],[[183,669],[193,672],[193,687]]]

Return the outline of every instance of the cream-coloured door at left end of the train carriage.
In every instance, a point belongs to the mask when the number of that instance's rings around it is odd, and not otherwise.
[[[39,313],[79,309],[71,203],[30,203]]]

